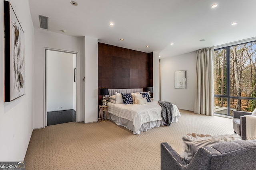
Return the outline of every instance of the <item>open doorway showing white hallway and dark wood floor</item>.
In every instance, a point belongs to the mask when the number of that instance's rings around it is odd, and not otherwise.
[[[45,49],[45,126],[77,122],[77,55]]]

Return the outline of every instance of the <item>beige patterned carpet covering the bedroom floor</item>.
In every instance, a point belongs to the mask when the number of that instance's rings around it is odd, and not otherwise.
[[[134,135],[112,121],[64,123],[34,130],[25,157],[27,170],[160,169],[160,143],[183,152],[187,133],[234,133],[232,119],[180,110],[178,122]]]

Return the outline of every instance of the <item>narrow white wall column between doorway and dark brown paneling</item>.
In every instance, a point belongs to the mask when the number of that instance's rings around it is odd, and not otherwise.
[[[98,39],[84,38],[85,115],[84,122],[98,121]]]

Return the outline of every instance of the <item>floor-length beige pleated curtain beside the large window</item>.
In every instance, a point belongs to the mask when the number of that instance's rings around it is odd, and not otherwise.
[[[194,113],[214,115],[213,47],[196,52],[196,96]]]

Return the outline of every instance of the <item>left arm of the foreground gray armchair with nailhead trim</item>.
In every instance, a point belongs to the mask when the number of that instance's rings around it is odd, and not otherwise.
[[[187,163],[168,143],[161,143],[161,170],[182,170]]]

